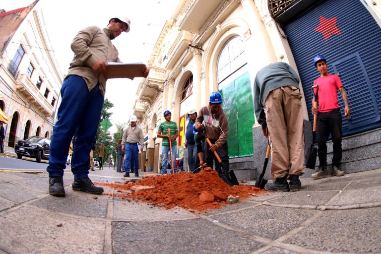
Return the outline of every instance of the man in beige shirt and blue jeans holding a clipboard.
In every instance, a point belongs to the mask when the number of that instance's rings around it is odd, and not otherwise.
[[[64,168],[70,139],[76,131],[71,171],[72,189],[100,194],[103,188],[95,186],[88,177],[89,153],[99,126],[106,91],[108,62],[121,62],[112,40],[130,30],[128,18],[114,17],[106,28],[86,27],[73,39],[74,59],[61,88],[62,101],[50,144],[49,193],[64,196]],[[148,68],[143,77],[147,77]]]

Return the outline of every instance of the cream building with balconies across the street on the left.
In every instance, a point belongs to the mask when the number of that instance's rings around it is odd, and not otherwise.
[[[59,69],[38,0],[0,10],[0,108],[8,117],[4,149],[18,139],[50,137],[59,107]]]

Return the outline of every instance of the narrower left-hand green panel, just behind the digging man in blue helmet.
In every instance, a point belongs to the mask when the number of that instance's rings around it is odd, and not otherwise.
[[[222,108],[228,118],[229,123],[229,136],[228,136],[228,146],[229,146],[229,157],[239,156],[238,150],[238,134],[237,134],[237,108],[236,108],[236,92],[234,87],[234,82],[225,86],[220,90],[222,95]]]

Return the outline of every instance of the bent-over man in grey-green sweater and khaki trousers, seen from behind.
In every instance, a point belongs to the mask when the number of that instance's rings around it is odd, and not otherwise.
[[[255,117],[271,147],[271,175],[267,191],[300,191],[304,174],[302,95],[299,76],[286,63],[260,69],[254,79]],[[290,184],[287,177],[290,177]]]

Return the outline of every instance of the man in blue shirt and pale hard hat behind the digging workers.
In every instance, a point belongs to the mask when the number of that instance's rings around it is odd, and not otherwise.
[[[197,147],[194,143],[193,125],[196,122],[197,113],[195,109],[188,112],[189,122],[185,132],[185,147],[188,148],[188,167],[190,171],[198,168],[200,163],[197,156]],[[197,166],[196,166],[197,165]]]

